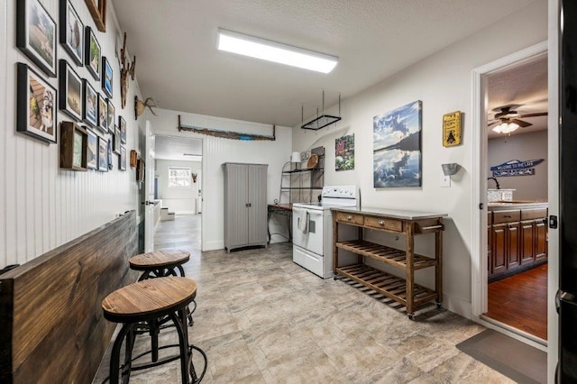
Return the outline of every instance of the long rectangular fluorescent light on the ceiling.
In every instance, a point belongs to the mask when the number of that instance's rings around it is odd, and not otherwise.
[[[323,73],[332,71],[339,59],[312,50],[303,50],[220,28],[218,29],[218,49]]]

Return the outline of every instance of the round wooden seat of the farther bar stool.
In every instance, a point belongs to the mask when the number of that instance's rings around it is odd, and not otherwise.
[[[142,270],[139,281],[150,278],[161,278],[166,276],[184,277],[182,264],[190,259],[190,252],[181,250],[163,250],[149,253],[141,253],[130,258],[130,268],[132,270]]]

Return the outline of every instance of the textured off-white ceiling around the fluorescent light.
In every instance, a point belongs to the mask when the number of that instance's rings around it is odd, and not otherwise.
[[[533,0],[112,0],[142,96],[294,126]],[[109,2],[110,3],[110,2]],[[216,50],[222,27],[338,56],[328,75]]]

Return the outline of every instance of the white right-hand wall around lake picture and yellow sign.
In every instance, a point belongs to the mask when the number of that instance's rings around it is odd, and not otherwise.
[[[507,43],[503,44],[503,39]],[[343,100],[343,120],[316,133],[295,128],[294,151],[316,145],[327,149],[325,184],[357,184],[362,206],[408,208],[446,213],[444,220],[444,306],[471,315],[472,260],[472,69],[547,39],[547,4],[536,1],[507,23],[498,22],[398,72],[356,96]],[[423,102],[422,185],[419,188],[372,187],[372,118],[415,100]],[[464,113],[463,144],[442,145],[443,114]],[[328,114],[337,113],[336,107]],[[354,133],[355,169],[334,171],[334,139]],[[441,164],[462,169],[452,187],[439,185]],[[388,241],[387,239],[382,239]],[[417,237],[416,251],[431,254],[432,236]],[[431,285],[433,273],[423,270],[417,282]]]

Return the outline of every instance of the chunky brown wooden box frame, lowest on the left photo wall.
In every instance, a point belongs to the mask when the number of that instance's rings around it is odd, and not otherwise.
[[[87,170],[87,131],[72,122],[60,123],[60,168]]]

